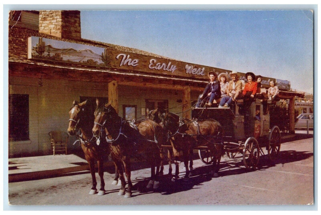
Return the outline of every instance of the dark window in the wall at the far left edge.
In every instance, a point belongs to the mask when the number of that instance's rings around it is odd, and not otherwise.
[[[29,140],[29,95],[9,94],[9,141]]]

